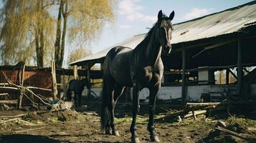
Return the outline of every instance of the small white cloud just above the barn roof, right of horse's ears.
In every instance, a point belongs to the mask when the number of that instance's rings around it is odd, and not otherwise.
[[[197,18],[199,16],[204,16],[206,14],[209,14],[210,11],[212,11],[212,9],[199,9],[199,8],[194,8],[191,9],[191,11],[187,14],[184,15],[184,19],[194,19]]]

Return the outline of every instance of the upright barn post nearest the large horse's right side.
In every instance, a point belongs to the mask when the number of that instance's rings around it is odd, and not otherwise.
[[[186,51],[182,51],[182,89],[181,89],[181,99],[182,104],[186,104]]]

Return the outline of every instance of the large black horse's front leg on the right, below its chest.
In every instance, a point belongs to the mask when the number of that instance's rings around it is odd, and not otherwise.
[[[156,136],[153,117],[156,110],[156,96],[160,90],[161,84],[156,84],[154,87],[150,88],[149,94],[149,120],[148,120],[148,131],[150,132],[150,139],[153,142],[160,142]]]

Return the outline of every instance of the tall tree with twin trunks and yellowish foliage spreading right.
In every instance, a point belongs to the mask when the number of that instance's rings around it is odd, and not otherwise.
[[[90,42],[106,22],[114,20],[114,6],[113,0],[60,0],[54,44],[57,67],[62,67],[67,33],[70,43]]]

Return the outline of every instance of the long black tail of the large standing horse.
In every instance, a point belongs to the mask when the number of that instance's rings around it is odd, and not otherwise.
[[[110,123],[110,112],[109,112],[109,104],[110,98],[108,94],[108,85],[106,84],[106,76],[103,78],[103,95],[102,95],[102,103],[101,103],[101,113],[100,113],[100,124],[101,130],[105,132],[105,127]]]

